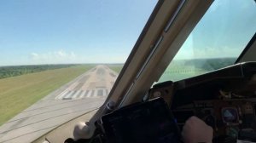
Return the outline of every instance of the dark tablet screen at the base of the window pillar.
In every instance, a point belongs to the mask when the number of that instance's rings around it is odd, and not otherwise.
[[[162,99],[126,107],[102,117],[103,128],[113,143],[176,143],[179,132]]]

